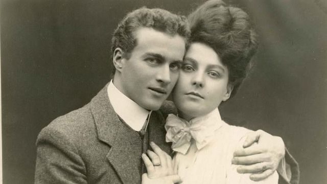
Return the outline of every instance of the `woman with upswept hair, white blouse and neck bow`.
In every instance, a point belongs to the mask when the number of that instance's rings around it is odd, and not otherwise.
[[[239,8],[208,1],[189,20],[190,47],[172,93],[178,116],[169,114],[165,126],[166,141],[176,152],[168,168],[173,167],[185,184],[255,182],[231,164],[250,130],[228,125],[217,108],[236,94],[258,47],[249,17]],[[151,175],[150,159],[143,159]],[[277,183],[278,175],[260,182]]]

